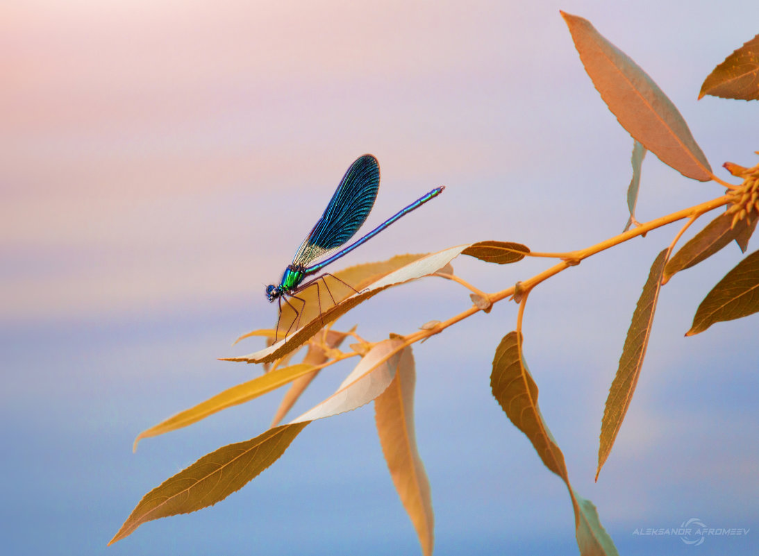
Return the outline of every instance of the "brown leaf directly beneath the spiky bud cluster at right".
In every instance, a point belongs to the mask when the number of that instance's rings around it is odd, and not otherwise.
[[[735,223],[735,228],[731,229],[733,216],[732,214],[723,212],[710,221],[693,239],[685,243],[672,256],[672,259],[667,262],[666,267],[664,267],[663,284],[666,284],[669,278],[672,278],[676,272],[690,269],[691,266],[697,265],[699,262],[712,256],[741,234],[745,234],[748,228],[751,227],[747,222],[748,218],[739,220]],[[755,225],[756,218],[754,218]]]

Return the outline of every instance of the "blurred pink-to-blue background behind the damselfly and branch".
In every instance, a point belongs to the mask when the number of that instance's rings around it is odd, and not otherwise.
[[[313,423],[213,508],[106,543],[143,494],[263,432],[276,391],[140,444],[173,413],[248,380],[216,357],[257,350],[264,297],[364,152],[376,225],[446,193],[336,268],[477,240],[537,251],[622,231],[631,137],[584,73],[559,9],[587,17],[679,107],[714,171],[759,162],[757,103],[704,78],[759,32],[756,2],[5,2],[0,8],[0,537],[7,554],[416,554],[371,406]],[[718,196],[647,155],[638,219]],[[704,221],[704,223],[706,220]],[[647,360],[594,482],[606,392],[650,263],[673,225],[541,284],[524,353],[572,484],[622,554],[756,554],[759,316],[684,338],[742,258],[733,244],[663,288]],[[692,235],[692,234],[690,234]],[[757,248],[754,238],[749,251]],[[460,257],[484,290],[548,260]],[[433,278],[349,313],[377,341],[471,305]],[[417,440],[436,554],[576,554],[572,505],[490,394],[517,306],[414,347]],[[323,372],[294,409],[328,395]],[[748,528],[698,548],[670,528]]]

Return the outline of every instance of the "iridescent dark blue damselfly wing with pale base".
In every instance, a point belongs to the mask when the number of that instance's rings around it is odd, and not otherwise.
[[[301,243],[293,265],[308,266],[320,256],[345,245],[361,228],[374,206],[379,189],[379,162],[363,155],[342,177],[324,214]]]

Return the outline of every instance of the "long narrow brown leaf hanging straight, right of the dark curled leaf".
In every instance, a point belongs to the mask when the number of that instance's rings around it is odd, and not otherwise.
[[[622,357],[619,358],[619,369],[609,388],[609,396],[606,397],[606,409],[603,411],[601,421],[601,434],[598,447],[598,469],[596,480],[601,472],[601,467],[609,457],[614,445],[614,440],[622,426],[638,385],[638,377],[641,375],[643,359],[648,347],[648,339],[653,324],[653,313],[657,308],[657,300],[661,290],[661,278],[669,250],[665,249],[653,261],[648,279],[643,287],[643,293],[638,299],[635,313],[632,313],[632,322],[627,331],[625,347],[622,348]]]

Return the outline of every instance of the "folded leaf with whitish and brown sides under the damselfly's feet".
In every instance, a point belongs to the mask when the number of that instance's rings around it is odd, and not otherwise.
[[[388,287],[404,284],[405,282],[416,280],[422,276],[433,274],[438,269],[451,262],[452,259],[458,256],[461,251],[465,250],[467,247],[469,247],[469,244],[459,245],[458,247],[449,247],[449,249],[425,255],[420,259],[414,260],[414,262],[411,262],[400,269],[389,272],[389,274],[384,275],[382,278],[379,278],[379,280],[373,281],[373,283],[365,287],[360,294],[354,293],[347,299],[342,300],[338,305],[326,309],[321,317],[317,316],[303,328],[298,330],[294,335],[289,336],[286,341],[285,338],[282,338],[282,340],[278,341],[276,344],[272,344],[263,350],[241,357],[224,357],[222,358],[222,361],[268,363],[269,361],[279,359],[279,357],[282,357],[285,353],[289,353],[308,341],[308,339],[324,325],[327,325],[330,322],[339,319],[339,317],[345,315],[345,313],[348,313],[348,311],[353,309],[354,306],[364,303],[364,301],[370,297],[374,297],[376,294],[379,294],[380,291],[383,291]],[[300,294],[298,295],[300,296]]]

